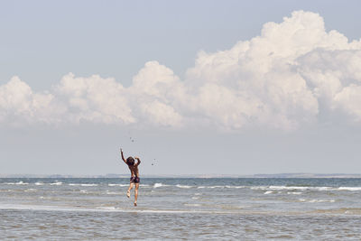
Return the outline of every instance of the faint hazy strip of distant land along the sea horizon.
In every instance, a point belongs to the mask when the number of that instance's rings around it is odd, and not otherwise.
[[[361,174],[346,173],[277,173],[254,175],[190,174],[190,175],[142,175],[143,178],[361,178]],[[0,174],[0,178],[129,178],[129,174],[65,175],[65,174]]]

